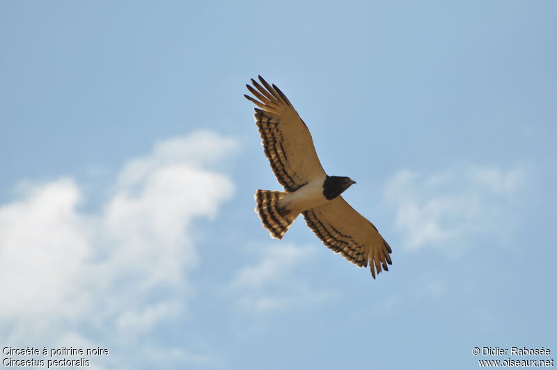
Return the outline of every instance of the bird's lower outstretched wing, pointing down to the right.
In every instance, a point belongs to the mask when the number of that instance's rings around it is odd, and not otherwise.
[[[375,226],[360,215],[342,196],[303,212],[306,224],[335,253],[359,267],[370,265],[371,275],[381,268],[389,271],[391,247]]]

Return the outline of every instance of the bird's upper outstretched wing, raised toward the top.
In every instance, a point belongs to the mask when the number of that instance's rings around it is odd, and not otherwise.
[[[265,155],[281,185],[294,192],[310,180],[324,177],[311,134],[290,101],[276,86],[269,86],[259,76],[263,86],[251,79],[253,87],[246,85],[256,99],[244,95],[255,103],[256,123],[263,139]]]

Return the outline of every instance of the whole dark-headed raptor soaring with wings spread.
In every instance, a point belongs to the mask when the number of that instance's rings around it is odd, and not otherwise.
[[[253,115],[265,156],[283,185],[284,192],[257,190],[255,198],[263,226],[272,238],[282,239],[301,213],[315,235],[335,253],[358,267],[376,273],[389,271],[391,247],[375,226],[360,215],[340,194],[356,182],[325,173],[308,127],[292,103],[274,84],[251,79],[246,85],[257,98],[244,95],[258,108]]]

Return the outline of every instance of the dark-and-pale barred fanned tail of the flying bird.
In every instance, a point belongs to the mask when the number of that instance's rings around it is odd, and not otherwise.
[[[282,239],[298,215],[285,213],[278,208],[278,201],[287,194],[286,192],[274,192],[272,190],[258,190],[256,192],[256,213],[258,213],[263,226],[269,231],[272,238]]]

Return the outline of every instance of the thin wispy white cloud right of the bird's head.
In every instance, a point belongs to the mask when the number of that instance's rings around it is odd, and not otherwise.
[[[384,199],[408,249],[454,252],[470,236],[504,233],[513,197],[525,181],[522,167],[467,167],[434,174],[402,170],[386,184]]]

